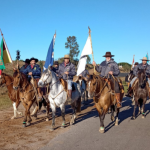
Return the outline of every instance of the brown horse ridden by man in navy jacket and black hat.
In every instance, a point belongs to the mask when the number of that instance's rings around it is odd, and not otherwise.
[[[29,126],[32,121],[31,116],[30,116],[30,108],[32,104],[35,102],[36,105],[38,105],[36,102],[35,91],[34,91],[33,85],[28,82],[26,76],[23,73],[19,72],[19,70],[16,70],[14,72],[13,78],[14,78],[13,88],[15,90],[19,89],[20,100],[25,108],[23,127],[26,127],[26,125]],[[38,111],[38,107],[36,108],[37,109],[35,111],[35,115],[37,114],[37,111]]]

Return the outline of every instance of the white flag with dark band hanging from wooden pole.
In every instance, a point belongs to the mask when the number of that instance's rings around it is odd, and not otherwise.
[[[92,44],[91,36],[89,35],[87,38],[86,44],[82,50],[81,56],[80,56],[80,60],[78,63],[78,69],[77,69],[77,76],[80,75],[85,70],[87,55],[90,55],[93,53],[91,44]]]

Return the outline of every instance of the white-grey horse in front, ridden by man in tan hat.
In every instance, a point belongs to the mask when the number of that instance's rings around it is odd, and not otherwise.
[[[50,107],[52,109],[51,130],[54,130],[54,127],[55,127],[56,106],[60,107],[61,109],[61,115],[63,119],[61,127],[64,128],[65,127],[65,103],[67,100],[67,91],[64,89],[63,85],[61,84],[56,74],[50,70],[50,67],[48,67],[48,69],[46,69],[42,73],[42,76],[38,82],[38,86],[44,87],[48,84],[50,86],[48,99],[50,101]],[[72,92],[72,101],[71,101],[73,114],[71,117],[70,125],[75,123],[76,112],[81,111],[81,87],[77,83],[74,83],[74,85],[75,85],[75,91]]]

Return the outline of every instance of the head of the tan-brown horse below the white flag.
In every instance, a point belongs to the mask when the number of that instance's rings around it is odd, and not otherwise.
[[[95,74],[93,74],[92,76],[87,75],[87,91],[88,91],[88,96],[90,98],[92,98],[96,92],[97,79],[98,77]]]

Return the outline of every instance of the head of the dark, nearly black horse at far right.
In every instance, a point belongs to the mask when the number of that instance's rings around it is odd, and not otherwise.
[[[139,86],[142,87],[146,83],[146,75],[145,75],[146,70],[145,69],[140,69],[138,71],[138,79],[139,79]]]

